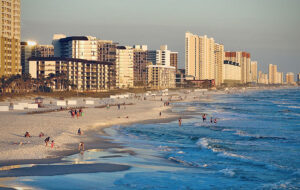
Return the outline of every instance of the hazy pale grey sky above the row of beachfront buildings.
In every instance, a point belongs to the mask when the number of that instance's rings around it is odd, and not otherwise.
[[[167,44],[184,68],[187,31],[251,53],[264,72],[300,72],[300,0],[21,0],[21,38],[39,44],[58,33]]]

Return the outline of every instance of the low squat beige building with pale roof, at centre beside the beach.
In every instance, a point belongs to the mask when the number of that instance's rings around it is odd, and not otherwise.
[[[148,86],[155,89],[175,88],[176,68],[165,65],[149,65]]]

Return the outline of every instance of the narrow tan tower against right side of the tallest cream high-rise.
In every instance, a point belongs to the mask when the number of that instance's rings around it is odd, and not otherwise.
[[[224,45],[215,43],[215,83],[217,86],[224,82]]]

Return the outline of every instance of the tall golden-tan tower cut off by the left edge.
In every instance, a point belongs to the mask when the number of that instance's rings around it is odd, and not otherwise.
[[[0,77],[21,74],[20,0],[1,0]]]

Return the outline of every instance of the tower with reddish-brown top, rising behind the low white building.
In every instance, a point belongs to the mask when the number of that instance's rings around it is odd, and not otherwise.
[[[241,83],[252,82],[251,57],[248,52],[225,52],[225,60],[239,63],[241,66]]]

